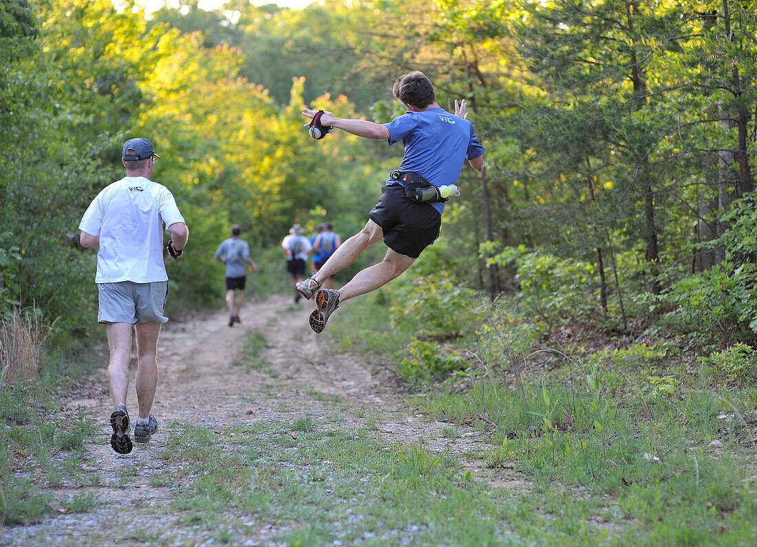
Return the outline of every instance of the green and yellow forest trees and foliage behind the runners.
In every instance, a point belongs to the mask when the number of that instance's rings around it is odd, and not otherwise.
[[[421,273],[444,266],[456,291],[513,298],[544,336],[572,323],[748,343],[755,7],[230,0],[147,14],[2,0],[0,311],[35,307],[66,333],[92,323],[94,256],[77,226],[123,176],[133,136],[154,143],[154,178],[192,233],[170,268],[186,305],[220,296],[212,254],[233,223],[253,249],[293,222],[354,233],[400,145],[313,141],[301,108],[388,122],[403,112],[391,83],[417,69],[442,107],[466,99],[486,147]]]

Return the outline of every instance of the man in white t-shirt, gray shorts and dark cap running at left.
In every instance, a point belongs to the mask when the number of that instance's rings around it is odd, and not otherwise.
[[[182,255],[189,235],[173,194],[150,180],[159,157],[146,138],[126,141],[121,157],[126,177],[104,187],[79,223],[82,246],[98,249],[98,323],[105,324],[111,349],[107,375],[116,405],[111,413],[111,447],[120,454],[132,451],[126,411],[132,325],[139,357],[134,440],[147,443],[157,431],[150,409],[157,388],[157,338],[168,320],[164,224],[171,236],[166,249],[174,260]]]

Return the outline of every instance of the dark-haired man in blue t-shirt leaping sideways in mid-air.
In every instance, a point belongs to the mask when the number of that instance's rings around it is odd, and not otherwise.
[[[405,152],[400,168],[386,181],[363,230],[345,241],[313,277],[297,283],[305,298],[316,295],[316,310],[310,314],[310,328],[316,333],[323,331],[340,301],[384,286],[407,270],[439,236],[444,202],[413,200],[410,181],[435,187],[455,184],[466,159],[475,169],[484,165],[484,147],[466,119],[465,100],[460,104],[455,100],[455,113],[448,113],[436,102],[431,81],[418,71],[400,76],[392,92],[407,107],[407,113],[387,124],[337,118],[330,112],[320,114],[319,122],[325,127],[358,137],[386,139],[390,145],[402,141]],[[303,116],[308,118],[317,114],[318,110],[303,109]],[[321,289],[329,277],[352,264],[363,250],[382,238],[388,246],[382,262],[361,270],[338,291]]]

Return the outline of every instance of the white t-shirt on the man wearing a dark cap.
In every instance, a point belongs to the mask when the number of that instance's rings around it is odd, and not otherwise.
[[[163,184],[124,177],[108,184],[89,204],[79,230],[100,236],[95,283],[166,281],[164,224],[184,222]]]

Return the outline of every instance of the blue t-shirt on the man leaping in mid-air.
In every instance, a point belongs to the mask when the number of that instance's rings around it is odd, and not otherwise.
[[[435,186],[456,184],[466,159],[484,153],[471,122],[443,108],[407,112],[384,125],[389,144],[402,141],[405,146],[400,171],[418,173]],[[388,179],[387,184],[400,183]],[[444,203],[431,205],[444,212]]]

